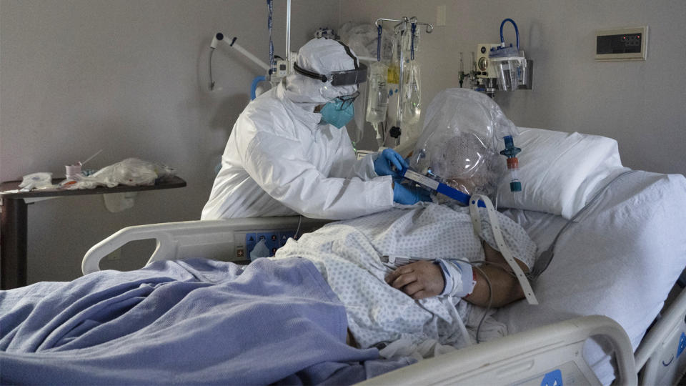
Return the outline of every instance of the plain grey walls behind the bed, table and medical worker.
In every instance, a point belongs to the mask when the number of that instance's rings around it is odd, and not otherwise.
[[[260,74],[236,52],[214,55],[221,91],[207,90],[209,39],[216,31],[267,60],[266,5],[258,0],[0,0],[0,180],[64,174],[98,149],[91,167],[126,157],[176,167],[188,187],[141,192],[112,214],[102,198],[29,206],[29,282],[79,277],[91,245],[132,224],[198,219],[230,129]],[[284,53],[285,1],[275,1],[277,54]],[[499,95],[520,126],[588,132],[619,141],[635,169],[686,173],[686,56],[682,0],[294,0],[292,49],[318,26],[418,16],[447,26],[424,34],[423,97],[457,86],[457,53],[497,42],[512,17],[535,60],[533,91]],[[647,61],[597,63],[595,29],[650,26]],[[514,32],[507,26],[507,41]],[[150,244],[124,248],[139,256]],[[111,262],[115,268],[129,268]],[[140,262],[134,262],[140,264]]]

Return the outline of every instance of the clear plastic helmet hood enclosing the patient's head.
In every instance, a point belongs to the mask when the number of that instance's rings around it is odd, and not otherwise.
[[[517,127],[486,95],[447,89],[427,108],[410,167],[465,194],[494,199],[506,171],[499,154],[504,149],[502,138],[517,134]],[[440,195],[437,199],[447,201]]]

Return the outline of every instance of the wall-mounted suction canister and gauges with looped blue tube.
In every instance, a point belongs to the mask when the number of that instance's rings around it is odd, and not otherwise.
[[[505,44],[502,29],[510,22],[515,27],[517,45]],[[459,81],[467,74],[462,64],[460,54]],[[472,54],[472,70],[469,79],[472,88],[485,92],[494,97],[495,91],[515,91],[517,89],[532,89],[533,61],[527,59],[524,50],[520,49],[520,31],[512,19],[504,19],[500,24],[500,43],[477,44],[476,55]]]

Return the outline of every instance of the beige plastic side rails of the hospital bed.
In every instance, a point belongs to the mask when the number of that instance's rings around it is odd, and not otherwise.
[[[250,232],[310,232],[328,220],[305,217],[169,222],[126,227],[86,252],[84,274],[98,271],[107,254],[136,240],[155,239],[148,264],[164,259],[203,257],[240,260]],[[472,345],[362,382],[364,385],[600,385],[581,353],[589,337],[607,337],[614,349],[615,384],[676,385],[686,372],[686,291],[680,291],[634,353],[622,327],[591,315]]]

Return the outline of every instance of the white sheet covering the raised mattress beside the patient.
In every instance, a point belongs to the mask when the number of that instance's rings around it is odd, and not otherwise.
[[[504,212],[527,229],[539,251],[566,220],[541,212]],[[495,315],[510,334],[582,315],[622,325],[634,350],[686,266],[686,179],[635,172],[620,177],[579,222],[560,236],[555,257],[533,283],[540,305],[517,302]],[[614,379],[596,342],[584,356],[600,381]]]

